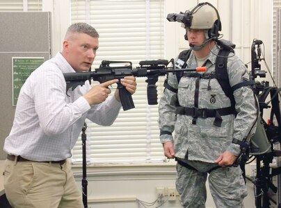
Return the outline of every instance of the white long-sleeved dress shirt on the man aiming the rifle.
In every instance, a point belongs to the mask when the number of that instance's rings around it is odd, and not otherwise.
[[[83,94],[90,83],[66,93],[63,73],[75,72],[57,53],[33,71],[22,86],[15,119],[4,150],[34,161],[56,161],[72,156],[86,118],[99,125],[111,125],[120,111],[115,96],[90,106]]]

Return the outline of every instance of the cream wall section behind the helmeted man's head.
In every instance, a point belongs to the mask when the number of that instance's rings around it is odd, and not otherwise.
[[[166,0],[166,13],[184,12],[196,5],[197,0]],[[236,55],[243,62],[250,62],[250,46],[253,39],[265,44],[266,61],[271,66],[272,51],[272,0],[213,0],[220,14],[223,39],[236,44]],[[179,51],[188,48],[184,40],[184,28],[175,22],[166,21],[166,58],[172,58]]]

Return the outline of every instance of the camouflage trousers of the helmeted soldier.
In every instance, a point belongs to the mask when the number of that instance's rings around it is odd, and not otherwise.
[[[219,208],[241,208],[247,189],[241,168],[216,168],[214,164],[188,161],[196,170],[177,164],[176,187],[185,208],[204,208],[207,200],[206,181],[208,178],[211,196]]]

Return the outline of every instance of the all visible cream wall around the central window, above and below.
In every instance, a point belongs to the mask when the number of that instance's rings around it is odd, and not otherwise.
[[[257,38],[265,45],[266,62],[272,66],[272,1],[273,0],[212,0],[209,1],[220,13],[223,31],[226,40],[236,44],[236,55],[243,62],[250,62],[250,46]],[[202,2],[202,1],[199,1]],[[166,13],[184,12],[195,6],[195,0],[166,0]],[[43,0],[45,11],[52,12],[52,54],[61,51],[63,37],[70,25],[70,1]],[[67,9],[66,9],[67,8]],[[166,59],[174,58],[179,51],[188,48],[184,40],[184,28],[180,24],[165,21]],[[264,65],[262,64],[262,67]],[[249,68],[250,69],[250,68]],[[265,69],[265,67],[264,67]],[[95,208],[137,207],[134,198],[152,202],[156,199],[156,187],[174,187],[175,166],[104,166],[88,167],[88,199],[105,202],[95,202]],[[81,167],[74,168],[77,173],[77,183],[81,184]],[[115,198],[115,199],[114,199]],[[127,200],[117,202],[116,199]],[[110,201],[115,202],[110,202]],[[133,201],[131,201],[133,200]],[[214,207],[208,196],[207,207]],[[93,206],[92,206],[93,207]],[[176,202],[169,202],[163,207],[180,207]]]

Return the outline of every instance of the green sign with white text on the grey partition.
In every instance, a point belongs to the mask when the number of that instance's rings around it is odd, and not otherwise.
[[[19,91],[32,71],[44,62],[44,57],[13,57],[13,106],[17,105]]]

